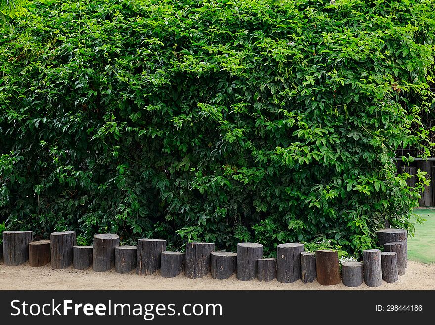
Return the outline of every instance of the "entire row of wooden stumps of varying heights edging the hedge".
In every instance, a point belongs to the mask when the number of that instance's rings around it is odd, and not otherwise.
[[[55,269],[73,265],[84,270],[92,266],[102,272],[115,268],[118,273],[136,270],[138,275],[150,275],[160,270],[163,277],[175,277],[185,273],[195,279],[209,272],[214,279],[227,279],[234,273],[237,279],[259,281],[277,279],[292,283],[301,279],[304,283],[317,279],[321,285],[343,282],[357,287],[365,282],[368,286],[397,281],[405,274],[407,264],[407,233],[402,229],[384,229],[378,232],[384,252],[371,249],[363,251],[362,262],[343,262],[340,275],[338,254],[335,250],[304,252],[304,244],[288,243],[277,246],[277,257],[263,258],[263,245],[237,244],[237,253],[215,252],[212,243],[187,243],[186,252],[166,251],[166,241],[139,239],[137,246],[120,246],[119,236],[97,234],[93,246],[77,246],[76,232],[54,232],[50,240],[33,241],[32,232],[3,232],[4,263],[19,265],[27,260],[31,266],[51,262]]]

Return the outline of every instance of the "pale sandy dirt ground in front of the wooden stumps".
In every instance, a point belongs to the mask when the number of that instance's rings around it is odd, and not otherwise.
[[[200,279],[184,276],[163,278],[159,274],[138,276],[133,272],[118,274],[115,271],[94,272],[72,268],[53,270],[50,264],[31,267],[6,266],[0,262],[1,290],[435,290],[435,264],[409,261],[406,274],[394,283],[383,282],[377,288],[364,283],[358,288],[343,284],[321,286],[317,281],[304,284],[300,280],[290,284],[271,282],[238,281],[235,276],[216,280],[210,275]]]

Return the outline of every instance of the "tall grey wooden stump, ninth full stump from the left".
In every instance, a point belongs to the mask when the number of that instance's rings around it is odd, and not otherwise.
[[[186,277],[196,279],[204,277],[210,271],[211,254],[215,244],[189,242],[186,244]]]

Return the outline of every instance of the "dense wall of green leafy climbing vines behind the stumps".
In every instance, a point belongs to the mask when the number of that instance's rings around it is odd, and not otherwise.
[[[376,245],[418,191],[432,0],[40,1],[0,37],[10,229]]]

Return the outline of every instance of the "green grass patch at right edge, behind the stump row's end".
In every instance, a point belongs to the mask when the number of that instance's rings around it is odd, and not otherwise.
[[[414,212],[427,221],[415,224],[415,237],[408,238],[408,259],[435,263],[435,209],[415,209]]]

